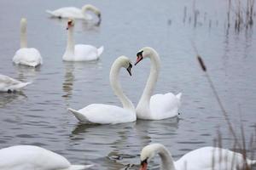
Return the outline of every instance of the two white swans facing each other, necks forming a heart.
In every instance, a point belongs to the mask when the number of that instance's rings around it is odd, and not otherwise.
[[[151,61],[150,74],[143,95],[135,109],[131,100],[123,93],[119,84],[119,71],[121,67],[131,70],[131,61],[121,56],[113,62],[109,80],[114,94],[121,101],[123,108],[115,105],[92,104],[76,111],[68,108],[79,122],[91,122],[99,124],[115,124],[122,122],[134,122],[137,118],[147,120],[160,120],[178,115],[181,94],[153,94],[154,85],[157,82],[160,70],[160,57],[153,48],[142,48],[137,54],[137,65],[143,58]]]

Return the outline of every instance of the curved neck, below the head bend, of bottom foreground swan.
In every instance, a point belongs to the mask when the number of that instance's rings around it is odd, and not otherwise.
[[[158,154],[161,158],[161,170],[175,170],[172,155],[166,148],[160,147],[158,149]]]

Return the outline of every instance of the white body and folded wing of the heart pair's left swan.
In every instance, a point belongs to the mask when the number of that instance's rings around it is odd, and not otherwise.
[[[80,116],[80,118],[76,116],[80,122],[86,120],[86,122],[88,121],[90,123],[117,124],[136,121],[135,112],[115,105],[92,104],[76,112]],[[81,116],[84,116],[84,119]]]

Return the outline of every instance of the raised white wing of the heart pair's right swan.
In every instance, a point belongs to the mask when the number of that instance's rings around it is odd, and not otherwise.
[[[178,115],[181,94],[154,94],[150,99],[150,112],[155,120]]]

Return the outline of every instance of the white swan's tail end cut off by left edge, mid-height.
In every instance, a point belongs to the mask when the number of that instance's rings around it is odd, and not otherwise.
[[[32,82],[20,82],[14,78],[4,76],[0,74],[0,92],[13,92],[19,91],[21,88],[24,88],[26,85]]]

